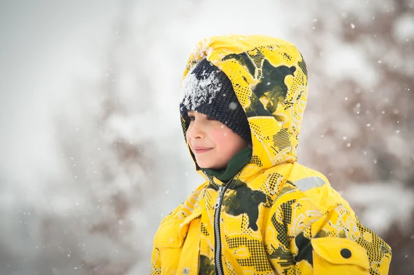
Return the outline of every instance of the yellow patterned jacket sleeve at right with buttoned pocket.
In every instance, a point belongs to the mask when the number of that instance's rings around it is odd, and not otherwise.
[[[321,213],[304,192],[286,183],[265,233],[278,274],[388,274],[391,247],[359,223],[346,205]]]

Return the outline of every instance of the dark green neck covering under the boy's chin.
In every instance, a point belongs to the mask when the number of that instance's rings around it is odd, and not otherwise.
[[[215,176],[217,179],[223,182],[227,182],[229,179],[233,178],[244,165],[249,163],[252,157],[252,147],[248,145],[246,148],[240,150],[233,156],[232,159],[228,162],[228,165],[225,169],[203,169],[199,168],[203,172],[206,172],[210,176]],[[198,166],[198,165],[197,165]]]

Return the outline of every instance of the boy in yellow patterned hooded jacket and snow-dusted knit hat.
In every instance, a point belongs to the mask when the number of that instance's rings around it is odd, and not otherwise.
[[[206,182],[161,221],[151,274],[388,274],[391,247],[296,162],[307,71],[294,45],[206,39],[182,91],[181,124]]]

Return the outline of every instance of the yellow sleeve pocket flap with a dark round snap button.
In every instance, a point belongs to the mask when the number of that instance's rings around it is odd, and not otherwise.
[[[313,238],[313,274],[369,275],[366,249],[347,238]]]

